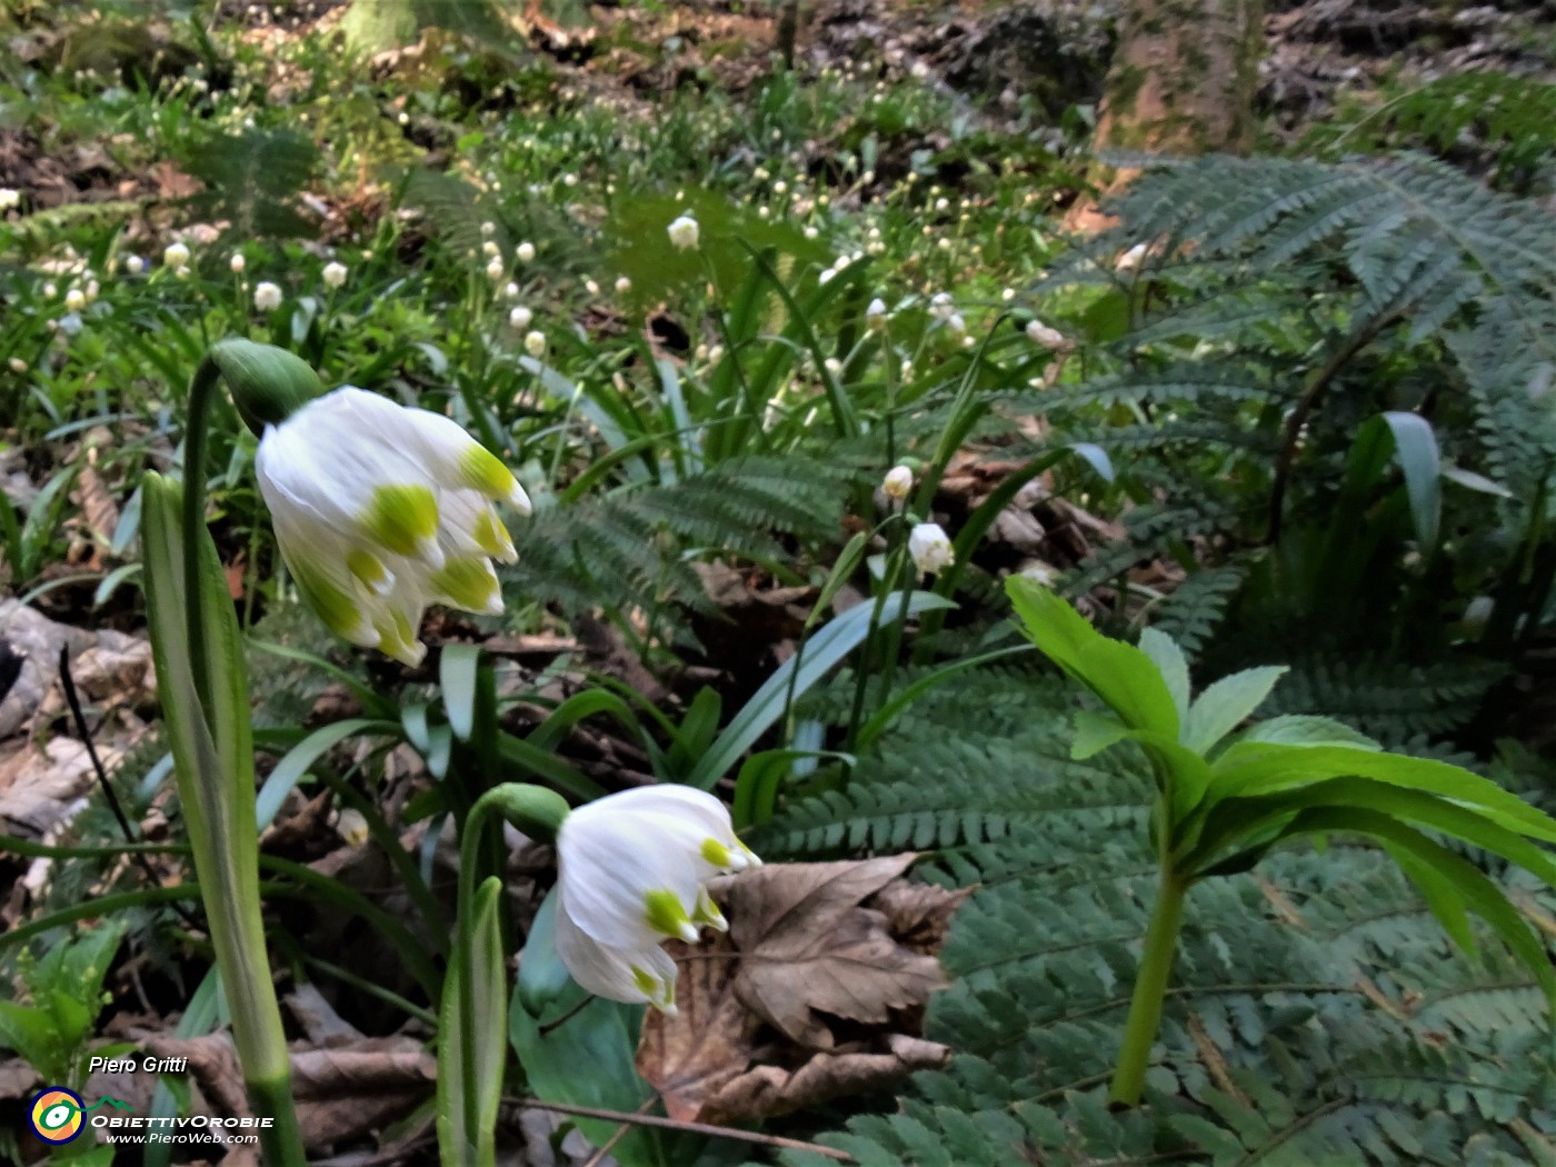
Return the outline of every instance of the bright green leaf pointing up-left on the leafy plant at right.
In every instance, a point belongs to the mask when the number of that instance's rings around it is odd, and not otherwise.
[[[1041,584],[1011,576],[1005,591],[1027,636],[1055,664],[1111,705],[1130,728],[1178,741],[1178,708],[1150,657],[1103,636]]]

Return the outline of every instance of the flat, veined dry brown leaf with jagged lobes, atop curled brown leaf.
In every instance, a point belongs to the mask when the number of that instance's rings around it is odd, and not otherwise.
[[[944,988],[938,960],[898,944],[885,915],[860,906],[916,857],[773,864],[725,881],[741,1002],[790,1041],[825,1050],[836,1038],[818,1013],[881,1024]]]

